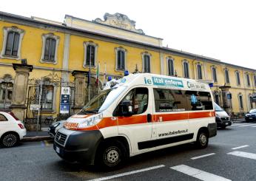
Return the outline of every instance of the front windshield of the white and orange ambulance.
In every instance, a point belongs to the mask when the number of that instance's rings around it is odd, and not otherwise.
[[[107,89],[100,92],[96,95],[92,100],[90,100],[87,105],[81,109],[77,115],[87,115],[87,114],[96,114],[99,112],[103,112],[107,109],[110,104],[118,98],[118,96],[126,89],[126,86],[118,86],[116,88]]]

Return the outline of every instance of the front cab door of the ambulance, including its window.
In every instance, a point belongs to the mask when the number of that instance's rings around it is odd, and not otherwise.
[[[146,86],[137,86],[129,90],[118,104],[118,134],[127,137],[131,144],[131,154],[144,151],[144,143],[151,140],[152,134],[152,92]],[[132,115],[126,112],[124,105],[132,105]],[[123,109],[123,110],[121,110]],[[129,111],[129,110],[127,110]]]

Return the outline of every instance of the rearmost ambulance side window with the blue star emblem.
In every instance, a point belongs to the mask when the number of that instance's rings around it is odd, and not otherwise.
[[[186,91],[188,110],[212,110],[210,92]]]

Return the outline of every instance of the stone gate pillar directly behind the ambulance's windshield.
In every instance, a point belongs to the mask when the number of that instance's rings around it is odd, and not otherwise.
[[[72,75],[75,77],[75,100],[73,110],[76,113],[84,106],[86,87],[85,77],[87,72],[74,70]]]

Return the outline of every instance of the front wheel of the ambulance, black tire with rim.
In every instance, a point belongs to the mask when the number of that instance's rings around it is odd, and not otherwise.
[[[96,155],[96,165],[108,169],[117,168],[125,160],[126,152],[122,143],[104,143],[99,147],[98,155]]]

